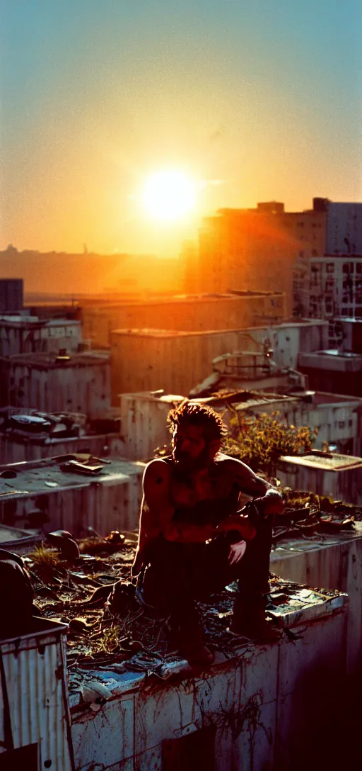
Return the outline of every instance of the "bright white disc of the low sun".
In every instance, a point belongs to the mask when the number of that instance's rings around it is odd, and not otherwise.
[[[151,217],[162,222],[180,220],[196,204],[195,183],[182,171],[155,172],[144,184],[142,200]]]

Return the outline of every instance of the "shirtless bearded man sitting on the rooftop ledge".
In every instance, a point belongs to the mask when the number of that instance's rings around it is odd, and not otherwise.
[[[279,635],[265,618],[269,591],[271,516],[281,493],[245,463],[221,453],[226,426],[208,406],[183,402],[171,410],[171,457],[144,470],[138,549],[132,575],[139,594],[168,615],[178,650],[208,664],[195,601],[238,581],[230,631],[264,643]],[[240,496],[253,500],[240,510]]]

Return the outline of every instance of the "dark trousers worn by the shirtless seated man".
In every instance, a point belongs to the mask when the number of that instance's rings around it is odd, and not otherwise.
[[[144,601],[181,625],[194,624],[195,600],[206,600],[231,581],[238,581],[245,604],[260,604],[269,590],[271,517],[255,517],[253,524],[257,534],[237,564],[230,564],[230,550],[240,540],[238,533],[222,534],[208,544],[179,544],[159,537],[151,545],[144,572]]]

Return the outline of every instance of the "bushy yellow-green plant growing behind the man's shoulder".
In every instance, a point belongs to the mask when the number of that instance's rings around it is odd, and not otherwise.
[[[274,476],[275,463],[281,455],[297,455],[312,449],[318,429],[288,426],[280,412],[256,417],[234,412],[230,434],[224,440],[224,452],[243,460],[254,471]]]

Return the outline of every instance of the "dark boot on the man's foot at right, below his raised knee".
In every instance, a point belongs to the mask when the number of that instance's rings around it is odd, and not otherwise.
[[[277,642],[281,631],[265,618],[267,599],[264,594],[239,594],[234,602],[229,631],[264,645]]]

